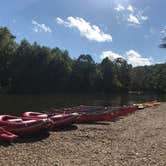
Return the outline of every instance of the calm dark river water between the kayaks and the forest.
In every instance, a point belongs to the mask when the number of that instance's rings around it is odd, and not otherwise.
[[[123,106],[152,100],[166,101],[166,95],[0,95],[0,114],[18,115],[25,111],[78,105]]]

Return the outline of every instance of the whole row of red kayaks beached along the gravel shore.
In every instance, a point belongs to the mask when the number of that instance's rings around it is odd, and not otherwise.
[[[155,106],[158,106],[156,104]],[[49,128],[68,126],[73,123],[111,121],[142,109],[142,105],[129,107],[79,106],[64,109],[51,109],[50,112],[25,112],[21,117],[0,115],[0,138],[13,141]]]

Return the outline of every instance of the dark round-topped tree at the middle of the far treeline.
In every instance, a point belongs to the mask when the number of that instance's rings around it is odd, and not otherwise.
[[[74,91],[92,92],[97,88],[100,71],[90,55],[80,55],[74,61],[71,87]]]

